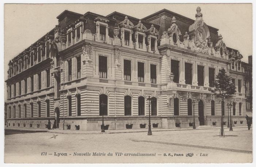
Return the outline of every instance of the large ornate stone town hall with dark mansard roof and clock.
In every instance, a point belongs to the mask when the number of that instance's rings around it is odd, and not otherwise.
[[[163,9],[144,19],[64,11],[58,25],[9,62],[7,126],[100,130],[246,125],[242,55],[208,26]],[[220,69],[237,93],[210,89]],[[228,103],[233,104],[228,113]],[[225,110],[221,111],[221,105]],[[227,124],[226,124],[227,125]]]

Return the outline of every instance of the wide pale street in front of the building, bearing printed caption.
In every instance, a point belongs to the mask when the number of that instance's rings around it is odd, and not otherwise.
[[[248,131],[247,128],[234,128],[234,131],[228,131],[228,129],[225,129],[225,138],[220,138],[218,135],[219,129],[153,131],[152,136],[148,136],[145,132],[118,134],[54,134],[47,132],[5,130],[5,162],[252,162],[252,130]],[[120,154],[118,152],[120,152]],[[58,153],[63,154],[59,154],[60,156],[58,156]],[[85,156],[81,156],[80,153],[84,153]],[[100,155],[100,153],[103,153],[103,155]],[[106,155],[104,155],[104,153]],[[112,153],[112,156],[108,156],[108,153]],[[148,156],[138,156],[139,154],[137,153],[141,153],[140,155],[148,154]],[[187,157],[186,154],[188,153],[193,153],[193,156]],[[164,156],[164,154],[167,156]]]

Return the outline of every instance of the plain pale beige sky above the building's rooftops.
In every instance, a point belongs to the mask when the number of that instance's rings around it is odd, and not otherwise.
[[[251,4],[5,4],[4,73],[8,62],[58,24],[56,17],[64,10],[84,14],[88,11],[106,16],[114,11],[142,19],[161,9],[168,9],[195,20],[200,6],[207,25],[219,29],[226,46],[240,51],[242,61],[252,55]]]

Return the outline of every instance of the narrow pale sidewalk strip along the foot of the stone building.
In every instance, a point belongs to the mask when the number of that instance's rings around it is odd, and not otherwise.
[[[236,128],[247,128],[247,126],[236,126]],[[252,128],[252,127],[251,127]],[[49,133],[59,133],[59,134],[115,134],[115,133],[140,133],[140,132],[147,132],[148,129],[123,129],[123,130],[105,130],[102,133],[100,130],[98,131],[78,131],[78,130],[48,130],[48,129],[34,129],[34,128],[12,128],[12,127],[5,127],[5,130],[18,130],[18,131],[31,131],[31,132],[49,132]],[[176,130],[207,130],[207,129],[220,129],[220,127],[210,127],[210,128],[184,128],[184,129],[152,129],[152,132],[157,131],[176,131]],[[229,127],[224,127],[224,129],[229,129]]]

